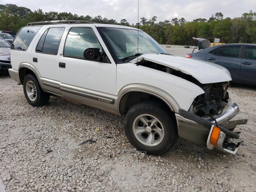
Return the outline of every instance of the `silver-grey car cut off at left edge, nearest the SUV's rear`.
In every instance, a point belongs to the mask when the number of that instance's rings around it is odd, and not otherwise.
[[[8,69],[12,68],[10,48],[11,45],[0,37],[0,74],[8,73]]]

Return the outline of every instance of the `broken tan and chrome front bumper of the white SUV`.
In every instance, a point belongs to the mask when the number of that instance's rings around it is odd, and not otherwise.
[[[246,124],[247,120],[232,120],[239,112],[238,105],[231,99],[228,104],[224,107],[222,114],[214,116],[218,122],[218,126],[222,126],[228,130],[233,130],[237,125]],[[186,119],[180,114],[176,115],[176,121],[178,125],[178,135],[182,138],[193,142],[206,143],[210,129],[206,128],[192,120]],[[214,121],[211,118],[206,118],[209,121]]]

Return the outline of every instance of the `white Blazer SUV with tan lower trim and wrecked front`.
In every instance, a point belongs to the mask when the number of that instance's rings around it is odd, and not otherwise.
[[[163,154],[178,136],[230,153],[242,143],[228,141],[247,122],[230,121],[239,108],[228,96],[228,70],[170,55],[142,30],[35,22],[20,29],[10,55],[10,76],[32,106],[55,95],[123,116],[138,150]]]

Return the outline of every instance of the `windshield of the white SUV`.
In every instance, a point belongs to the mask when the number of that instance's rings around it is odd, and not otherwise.
[[[102,27],[100,31],[118,61],[129,56],[136,57],[135,54],[137,53],[168,54],[164,48],[143,31],[139,31],[139,46],[138,30]]]

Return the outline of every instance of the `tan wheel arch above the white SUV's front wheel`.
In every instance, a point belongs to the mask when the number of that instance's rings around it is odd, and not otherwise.
[[[180,106],[167,92],[145,84],[129,84],[124,86],[118,94],[118,112],[123,115],[129,108],[143,100],[159,100],[165,104],[171,112],[178,112]]]

